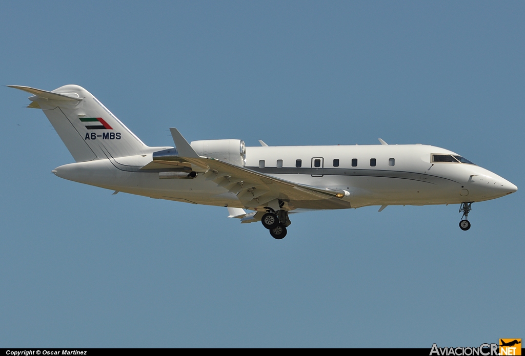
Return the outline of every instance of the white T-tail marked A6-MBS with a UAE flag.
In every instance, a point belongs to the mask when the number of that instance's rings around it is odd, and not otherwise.
[[[42,109],[77,162],[151,152],[106,106],[78,85],[45,91],[8,87],[33,94],[28,107]]]

